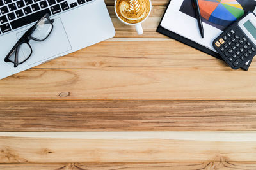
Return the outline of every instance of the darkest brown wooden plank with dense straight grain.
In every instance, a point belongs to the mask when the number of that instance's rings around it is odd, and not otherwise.
[[[256,101],[0,102],[0,131],[256,131]]]

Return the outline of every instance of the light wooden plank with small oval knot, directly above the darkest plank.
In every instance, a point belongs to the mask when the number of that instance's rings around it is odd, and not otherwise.
[[[230,69],[34,69],[1,80],[0,100],[255,100],[255,76]]]

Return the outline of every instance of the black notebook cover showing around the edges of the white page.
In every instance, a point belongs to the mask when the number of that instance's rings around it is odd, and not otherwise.
[[[167,10],[170,2],[171,1],[169,1],[168,5],[166,6],[166,9],[164,11],[164,15],[166,13],[166,10]],[[163,15],[163,17],[164,17],[164,15]],[[161,22],[163,20],[163,17],[161,18],[161,21],[160,21],[160,23],[159,23],[159,25],[157,27],[157,30],[156,30],[157,32],[159,32],[161,34],[164,34],[165,36],[168,36],[170,38],[176,39],[177,41],[180,41],[180,42],[182,42],[182,43],[184,43],[186,45],[189,45],[189,46],[191,46],[193,48],[196,48],[196,49],[198,49],[198,50],[200,50],[200,51],[202,51],[204,53],[212,55],[213,57],[216,57],[217,59],[223,60],[223,59],[221,59],[221,57],[220,57],[220,55],[218,53],[210,50],[209,48],[206,48],[205,46],[202,46],[202,45],[200,45],[198,43],[195,43],[194,41],[191,41],[188,38],[184,38],[183,36],[180,36],[179,34],[176,34],[176,33],[172,32],[172,31],[169,31],[168,29],[164,29],[163,27],[161,27],[160,24],[161,24]],[[244,69],[244,70],[247,71],[249,69],[249,67],[250,67],[251,62],[252,62],[252,60],[250,60],[248,65],[244,65],[243,67],[241,67],[241,69]]]

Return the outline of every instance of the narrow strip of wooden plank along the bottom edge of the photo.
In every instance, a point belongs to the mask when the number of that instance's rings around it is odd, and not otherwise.
[[[161,162],[161,163],[105,163],[105,164],[92,164],[92,163],[59,163],[59,164],[0,164],[0,169],[8,170],[195,170],[195,169],[246,169],[255,170],[256,162]]]

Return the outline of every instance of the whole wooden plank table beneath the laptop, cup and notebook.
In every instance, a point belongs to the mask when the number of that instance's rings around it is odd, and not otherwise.
[[[142,36],[106,3],[115,38],[0,80],[0,169],[256,169],[255,62],[158,34],[167,0]]]

